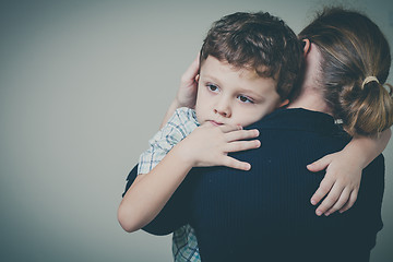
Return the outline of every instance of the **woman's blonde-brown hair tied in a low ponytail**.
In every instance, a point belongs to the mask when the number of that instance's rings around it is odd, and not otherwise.
[[[324,98],[349,134],[377,134],[393,123],[391,66],[386,38],[366,15],[340,8],[323,10],[300,34],[322,55]]]

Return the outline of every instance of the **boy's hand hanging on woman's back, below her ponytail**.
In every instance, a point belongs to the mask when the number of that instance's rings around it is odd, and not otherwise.
[[[354,205],[362,171],[355,157],[337,152],[322,157],[307,168],[314,172],[326,169],[325,177],[311,198],[311,204],[315,205],[329,193],[318,206],[317,215],[327,216],[337,210],[343,213]]]

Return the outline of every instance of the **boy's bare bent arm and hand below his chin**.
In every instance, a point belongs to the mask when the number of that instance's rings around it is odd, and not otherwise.
[[[257,130],[238,127],[214,127],[207,122],[196,128],[148,174],[139,175],[122,199],[118,219],[127,231],[134,231],[150,223],[164,207],[192,167],[227,166],[248,170],[250,164],[227,155],[229,152],[257,148]],[[241,140],[241,141],[240,141]]]

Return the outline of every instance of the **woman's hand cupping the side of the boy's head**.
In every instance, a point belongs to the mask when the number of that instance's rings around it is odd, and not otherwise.
[[[178,107],[194,108],[196,100],[198,82],[195,80],[199,73],[199,55],[192,61],[187,71],[181,75],[180,87],[176,95]]]

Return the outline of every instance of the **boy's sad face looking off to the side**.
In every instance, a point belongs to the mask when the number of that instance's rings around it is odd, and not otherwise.
[[[195,112],[202,124],[247,127],[272,112],[281,104],[276,81],[209,56],[202,63]]]

